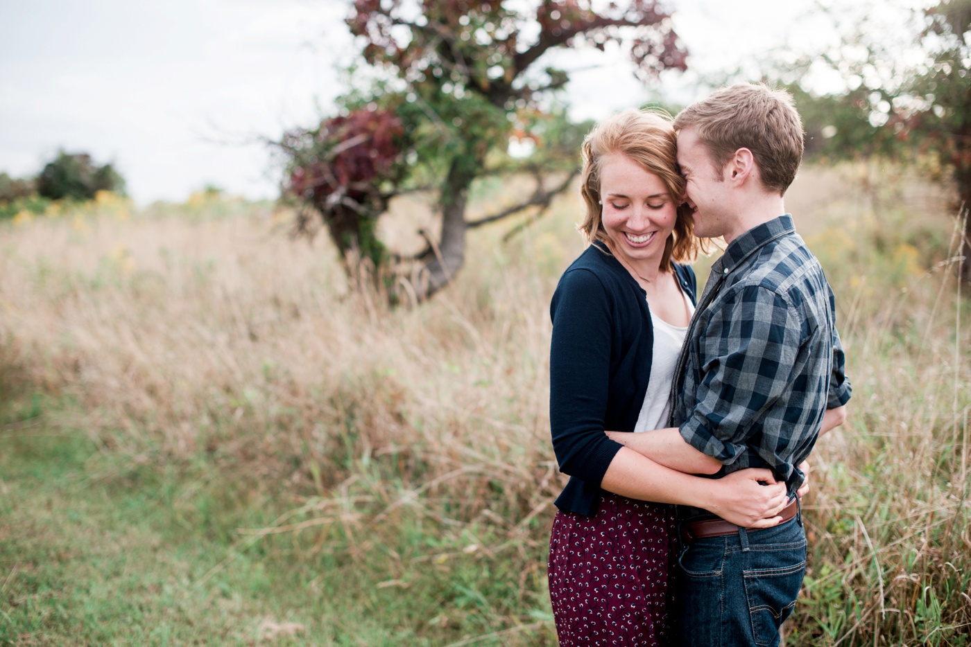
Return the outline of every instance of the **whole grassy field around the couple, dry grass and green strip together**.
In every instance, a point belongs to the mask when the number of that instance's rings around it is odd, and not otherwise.
[[[804,169],[787,195],[854,384],[812,460],[787,645],[971,643],[971,307],[947,196],[876,163]],[[396,206],[386,235],[414,244],[422,209]],[[394,309],[267,205],[106,198],[0,223],[0,643],[555,644],[548,307],[579,209],[563,197],[508,243],[512,223],[470,233],[452,286]],[[69,536],[107,564],[148,544],[172,561],[124,570],[144,601],[117,612],[65,584],[100,577],[58,558]],[[170,618],[179,598],[204,611]]]

